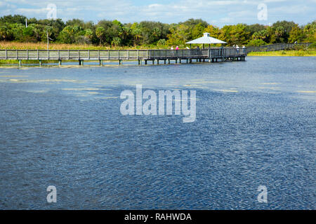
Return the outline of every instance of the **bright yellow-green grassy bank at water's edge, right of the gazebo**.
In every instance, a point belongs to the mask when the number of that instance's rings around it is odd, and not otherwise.
[[[249,52],[248,56],[316,56],[316,49]]]

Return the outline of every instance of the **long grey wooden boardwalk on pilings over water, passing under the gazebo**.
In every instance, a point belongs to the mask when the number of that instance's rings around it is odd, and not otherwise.
[[[58,60],[61,65],[62,60],[77,60],[83,65],[84,61],[103,61],[117,60],[122,64],[124,60],[136,60],[138,64],[144,61],[159,62],[164,64],[171,60],[176,63],[196,62],[218,62],[244,60],[247,54],[246,48],[207,48],[202,50],[0,50],[0,59],[18,59],[20,66],[22,60]]]

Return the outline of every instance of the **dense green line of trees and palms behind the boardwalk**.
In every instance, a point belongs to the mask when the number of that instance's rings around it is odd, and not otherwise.
[[[185,42],[201,37],[204,32],[226,41],[227,45],[315,42],[316,20],[302,26],[284,20],[271,26],[237,24],[219,28],[201,19],[173,24],[152,21],[123,24],[118,20],[100,20],[95,24],[79,19],[67,22],[61,19],[37,20],[23,15],[6,15],[0,18],[0,41],[36,43],[46,41],[48,35],[55,43],[181,47]]]

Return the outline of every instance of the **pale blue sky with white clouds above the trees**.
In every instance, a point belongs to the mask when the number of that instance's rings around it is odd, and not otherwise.
[[[79,18],[93,22],[117,19],[173,23],[202,18],[223,27],[239,22],[268,25],[277,20],[304,25],[316,20],[316,0],[0,0],[0,16],[20,14],[43,19],[52,15],[48,15],[48,4],[56,6],[57,18],[62,20]]]

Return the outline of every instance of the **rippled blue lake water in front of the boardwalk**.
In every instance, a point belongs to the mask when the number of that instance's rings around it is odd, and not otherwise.
[[[316,57],[86,64],[0,69],[0,209],[316,209]],[[121,115],[136,84],[195,122]]]

